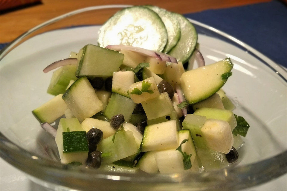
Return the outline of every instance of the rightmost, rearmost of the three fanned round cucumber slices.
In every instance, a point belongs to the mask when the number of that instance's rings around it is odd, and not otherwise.
[[[184,16],[178,13],[173,13],[173,16],[179,22],[181,36],[175,47],[168,54],[184,64],[189,60],[196,46],[197,33],[193,24]]]

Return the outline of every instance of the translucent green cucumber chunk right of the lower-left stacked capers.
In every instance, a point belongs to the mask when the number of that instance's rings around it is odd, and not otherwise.
[[[119,130],[115,135],[103,139],[97,145],[97,150],[102,152],[102,164],[109,164],[138,153],[138,145],[132,131]]]

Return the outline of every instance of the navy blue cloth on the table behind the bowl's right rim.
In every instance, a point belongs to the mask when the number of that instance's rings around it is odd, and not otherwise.
[[[280,1],[185,14],[287,66],[287,8]]]

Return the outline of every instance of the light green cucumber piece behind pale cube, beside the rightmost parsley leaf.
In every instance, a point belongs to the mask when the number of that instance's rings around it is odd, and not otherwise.
[[[227,121],[230,125],[231,131],[236,127],[237,121],[230,110],[216,109],[201,107],[197,109],[193,114],[205,116],[207,119],[218,119]]]

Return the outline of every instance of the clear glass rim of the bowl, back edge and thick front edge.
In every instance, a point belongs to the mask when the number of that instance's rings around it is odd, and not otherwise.
[[[132,5],[101,5],[101,6],[93,6],[86,7],[78,10],[71,11],[69,13],[63,14],[61,16],[55,17],[54,19],[50,19],[27,32],[23,33],[21,36],[13,40],[10,44],[4,47],[0,51],[0,61],[7,55],[10,50],[13,49],[23,38],[33,33],[34,31],[41,29],[49,24],[57,22],[61,19],[64,19],[69,16],[73,16],[79,13],[83,13],[91,10],[99,10],[99,9],[107,9],[107,8],[125,8],[130,7]],[[221,36],[224,36],[238,44],[240,47],[244,47],[249,50],[253,55],[263,61],[271,70],[273,70],[278,76],[280,76],[283,81],[286,80],[286,70],[279,64],[276,64],[274,61],[264,56],[262,53],[259,53],[254,48],[245,44],[244,42],[234,38],[233,36],[228,35],[220,30],[217,30],[213,27],[210,27],[206,24],[203,24],[199,21],[195,21],[193,19],[189,19],[193,24],[204,27],[208,30],[212,30],[215,33],[218,33]],[[12,164],[14,167],[17,167],[19,170],[26,172],[29,175],[36,176],[37,178],[48,181],[53,184],[61,184],[66,187],[78,187],[81,188],[83,185],[79,187],[79,185],[75,183],[67,184],[67,182],[63,182],[63,180],[59,177],[70,177],[71,172],[73,173],[73,177],[77,178],[83,182],[86,180],[91,180],[91,177],[94,179],[94,182],[99,183],[106,181],[113,182],[129,182],[134,184],[143,184],[150,183],[152,184],[170,184],[176,185],[179,187],[178,183],[181,183],[183,187],[192,184],[195,187],[206,186],[207,189],[219,188],[219,185],[225,185],[225,187],[229,187],[232,189],[243,189],[246,187],[258,185],[264,182],[267,182],[271,179],[277,178],[280,175],[283,175],[287,172],[287,150],[282,153],[272,157],[267,158],[265,160],[259,161],[257,163],[248,164],[246,166],[235,167],[235,168],[225,168],[222,170],[205,172],[205,173],[173,173],[168,175],[147,175],[147,174],[126,174],[126,173],[116,173],[116,172],[100,172],[95,173],[94,170],[89,169],[70,169],[69,165],[64,165],[60,163],[55,163],[49,159],[38,156],[32,152],[28,152],[18,145],[14,144],[12,141],[8,140],[1,132],[0,132],[0,156],[8,163]],[[268,164],[275,164],[273,166]],[[265,167],[265,168],[262,168]],[[259,175],[260,174],[260,175]],[[227,176],[228,175],[228,176]],[[237,178],[235,178],[237,177]],[[234,179],[235,178],[235,179]],[[65,179],[64,179],[65,180]],[[193,180],[193,181],[191,181]],[[231,182],[231,183],[230,183]],[[244,183],[244,184],[240,184]],[[219,188],[220,190],[220,188]]]

